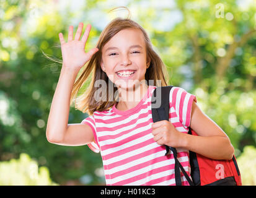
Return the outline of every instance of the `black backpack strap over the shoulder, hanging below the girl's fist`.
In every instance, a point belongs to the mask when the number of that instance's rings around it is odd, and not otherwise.
[[[153,122],[156,123],[161,120],[167,120],[169,121],[169,95],[170,95],[170,90],[172,89],[173,86],[166,86],[166,87],[157,87],[155,88],[153,94],[152,94],[152,100],[151,100],[151,105],[152,105],[152,119]],[[161,97],[161,98],[159,98]],[[175,160],[175,167],[174,167],[174,173],[175,173],[175,183],[177,186],[182,186],[182,181],[181,181],[181,175],[180,175],[180,170],[184,174],[185,178],[187,179],[188,183],[190,186],[193,186],[194,183],[184,170],[183,166],[180,164],[178,158],[177,158],[177,150],[173,147],[169,147],[166,145],[166,154],[169,153],[169,150],[172,151],[174,154],[174,160]]]

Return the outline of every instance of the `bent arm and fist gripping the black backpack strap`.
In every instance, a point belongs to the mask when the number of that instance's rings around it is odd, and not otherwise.
[[[193,101],[190,128],[198,134],[192,136],[177,131],[170,121],[152,124],[152,135],[159,145],[183,148],[215,160],[231,160],[234,147],[225,132],[212,121]]]

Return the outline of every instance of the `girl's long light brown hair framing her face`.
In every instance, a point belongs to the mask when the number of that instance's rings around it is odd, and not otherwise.
[[[70,105],[74,101],[75,108],[83,113],[92,115],[94,111],[105,111],[115,105],[117,98],[114,96],[114,93],[116,93],[117,87],[113,86],[113,88],[108,88],[109,85],[112,86],[113,84],[111,84],[111,80],[108,79],[107,74],[102,71],[100,61],[102,59],[102,48],[104,45],[118,32],[126,28],[136,28],[143,32],[144,41],[146,43],[146,57],[147,60],[151,60],[145,74],[147,84],[149,85],[149,80],[151,80],[150,84],[152,85],[153,82],[154,86],[157,87],[168,85],[169,75],[166,65],[152,48],[151,41],[149,40],[146,31],[131,19],[121,19],[120,17],[117,17],[116,19],[113,19],[100,34],[99,40],[97,41],[97,48],[99,51],[90,58],[90,61],[87,62],[86,66],[84,66],[84,70],[74,83],[73,90],[71,92]],[[90,74],[92,75],[90,76]],[[77,93],[86,80],[90,80],[89,86],[79,95],[79,97],[76,98]],[[107,84],[105,93],[102,93],[105,95],[106,100],[95,100],[95,92],[97,94],[98,89],[98,87],[95,87],[95,82],[97,82],[97,80],[105,80]],[[161,82],[161,84],[159,84],[159,82]]]

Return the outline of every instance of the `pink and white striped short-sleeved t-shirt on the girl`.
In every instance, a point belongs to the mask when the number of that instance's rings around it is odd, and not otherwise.
[[[107,185],[175,185],[174,156],[165,156],[164,145],[157,144],[152,135],[151,97],[156,86],[138,105],[127,111],[114,105],[107,111],[95,111],[81,123],[89,124],[95,142],[88,144],[100,152]],[[169,121],[180,132],[188,132],[195,95],[183,88],[173,87],[169,95]],[[189,153],[177,149],[178,160],[190,176]],[[182,175],[182,185],[188,185]]]

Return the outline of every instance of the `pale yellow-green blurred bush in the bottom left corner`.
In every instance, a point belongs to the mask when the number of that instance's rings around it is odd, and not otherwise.
[[[0,185],[2,186],[56,186],[50,179],[48,168],[38,168],[37,161],[21,153],[19,159],[0,162]]]

